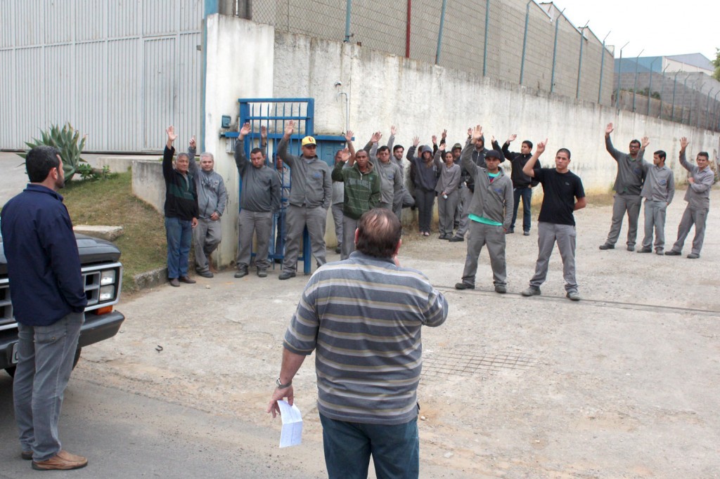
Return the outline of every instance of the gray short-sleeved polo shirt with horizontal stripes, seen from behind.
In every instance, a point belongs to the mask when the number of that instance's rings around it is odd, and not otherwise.
[[[404,424],[417,416],[420,327],[443,324],[448,304],[423,273],[353,252],[315,271],[285,333],[315,350],[318,410],[330,419]]]

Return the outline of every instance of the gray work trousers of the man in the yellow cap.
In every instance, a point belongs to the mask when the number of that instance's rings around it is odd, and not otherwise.
[[[310,249],[315,256],[318,268],[328,261],[325,260],[325,222],[328,211],[323,206],[308,208],[291,204],[287,209],[287,244],[285,257],[282,261],[282,270],[294,273],[297,269],[297,257],[300,255],[300,240],[302,230],[307,226],[310,234]]]

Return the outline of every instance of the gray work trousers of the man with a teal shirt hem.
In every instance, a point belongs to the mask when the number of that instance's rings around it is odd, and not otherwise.
[[[501,226],[473,221],[470,222],[470,239],[467,242],[467,256],[465,257],[465,269],[462,272],[462,282],[475,286],[477,258],[480,257],[480,251],[485,245],[487,245],[487,254],[490,255],[492,284],[495,286],[507,285],[505,229]]]

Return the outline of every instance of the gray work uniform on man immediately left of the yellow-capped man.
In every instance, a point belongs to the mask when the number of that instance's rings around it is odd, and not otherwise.
[[[243,183],[238,216],[238,270],[247,270],[250,265],[253,233],[257,244],[255,265],[258,270],[267,269],[272,217],[280,209],[282,195],[280,175],[267,165],[255,168],[245,156],[243,140],[235,142],[235,165],[238,166],[240,181]]]

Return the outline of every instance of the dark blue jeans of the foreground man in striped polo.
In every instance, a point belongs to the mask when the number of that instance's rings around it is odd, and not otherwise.
[[[361,424],[320,414],[325,466],[330,479],[366,479],[370,455],[378,479],[418,478],[418,419],[405,424]]]

